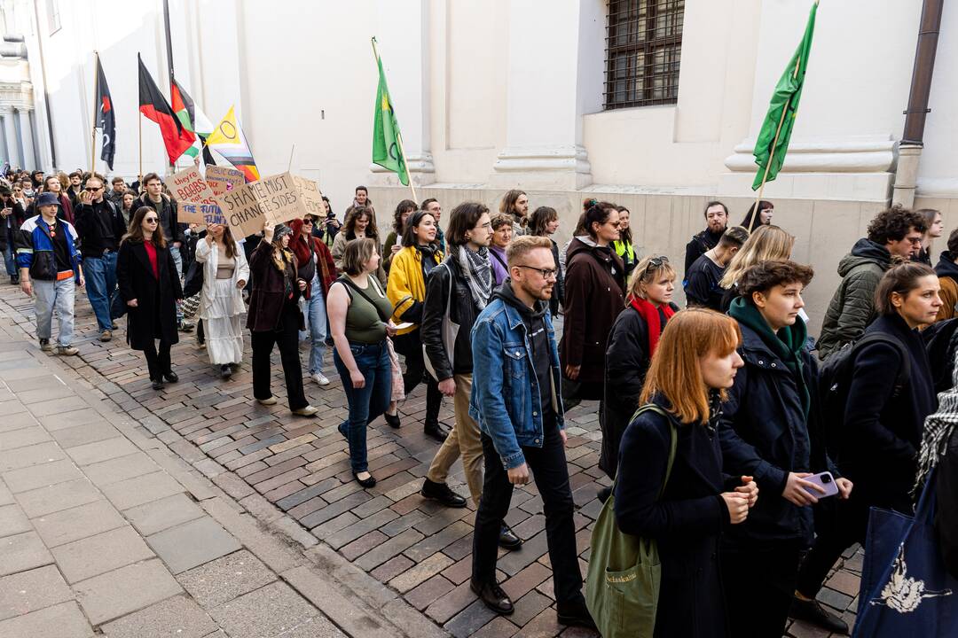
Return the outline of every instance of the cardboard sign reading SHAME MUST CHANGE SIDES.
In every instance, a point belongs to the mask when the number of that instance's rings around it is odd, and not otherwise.
[[[235,237],[262,231],[265,222],[282,224],[325,210],[316,184],[288,172],[224,192],[216,201]]]

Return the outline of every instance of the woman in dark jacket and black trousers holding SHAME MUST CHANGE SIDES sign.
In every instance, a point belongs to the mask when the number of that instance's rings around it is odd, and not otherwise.
[[[263,406],[276,405],[269,389],[269,356],[278,345],[289,409],[293,414],[313,416],[319,410],[309,405],[303,393],[299,361],[299,330],[303,327],[299,297],[308,283],[297,275],[296,255],[289,249],[291,237],[288,226],[274,229],[267,221],[262,226],[262,241],[249,258],[253,285],[246,327],[253,341],[253,396]]]

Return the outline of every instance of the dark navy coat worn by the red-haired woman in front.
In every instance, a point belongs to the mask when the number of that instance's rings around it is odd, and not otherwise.
[[[666,405],[658,398],[655,403]],[[675,460],[657,498],[669,460],[670,421],[676,425]],[[654,635],[727,635],[719,538],[729,515],[720,494],[738,485],[739,477],[722,473],[716,432],[647,410],[628,425],[619,454],[619,529],[658,543],[662,582]]]

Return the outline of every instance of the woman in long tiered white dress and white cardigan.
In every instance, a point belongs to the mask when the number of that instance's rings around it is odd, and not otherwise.
[[[220,376],[229,379],[242,361],[239,316],[246,312],[242,289],[249,279],[249,265],[229,228],[221,224],[206,227],[206,236],[196,244],[196,261],[203,264],[199,317],[206,333],[206,351],[210,363],[219,366]]]

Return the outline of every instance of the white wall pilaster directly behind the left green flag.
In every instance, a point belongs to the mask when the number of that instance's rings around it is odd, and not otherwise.
[[[429,0],[376,2],[379,29],[374,33],[379,33],[379,55],[399,119],[409,175],[416,186],[436,181],[436,168],[429,152],[429,5]],[[396,174],[382,166],[370,165],[370,170],[374,173],[374,185],[399,185]]]

